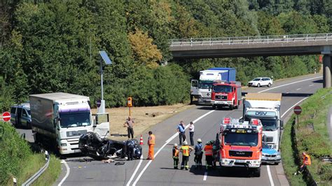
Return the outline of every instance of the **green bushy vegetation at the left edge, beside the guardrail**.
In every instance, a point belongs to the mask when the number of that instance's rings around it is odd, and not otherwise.
[[[32,151],[10,123],[0,122],[0,132],[0,185],[4,185],[11,176],[18,176],[22,160]]]

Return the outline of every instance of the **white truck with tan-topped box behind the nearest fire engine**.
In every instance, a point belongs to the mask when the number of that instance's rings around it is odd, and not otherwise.
[[[243,101],[244,121],[261,120],[266,143],[276,150],[279,150],[281,130],[284,125],[280,114],[281,101],[280,93],[248,93]]]

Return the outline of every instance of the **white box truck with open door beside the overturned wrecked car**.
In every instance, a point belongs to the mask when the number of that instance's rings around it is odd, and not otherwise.
[[[88,96],[63,92],[29,95],[32,132],[36,143],[44,143],[60,155],[81,152],[82,134],[109,132],[108,113],[92,117]]]

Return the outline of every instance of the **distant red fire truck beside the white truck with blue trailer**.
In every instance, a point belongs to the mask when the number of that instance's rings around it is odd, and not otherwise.
[[[240,82],[215,81],[212,85],[212,107],[228,106],[230,109],[238,108],[242,101],[242,88]]]

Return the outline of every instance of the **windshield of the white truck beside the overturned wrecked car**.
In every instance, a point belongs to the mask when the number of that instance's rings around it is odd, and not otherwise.
[[[60,113],[60,126],[62,128],[90,125],[90,112]]]

